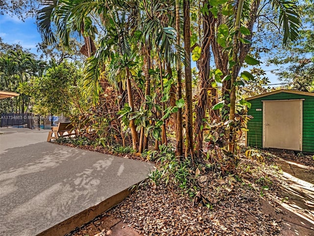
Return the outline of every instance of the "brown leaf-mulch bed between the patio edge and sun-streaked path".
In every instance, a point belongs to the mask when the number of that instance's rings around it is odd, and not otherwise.
[[[314,161],[312,156],[296,157],[276,151],[261,153],[267,157],[265,163],[243,156],[235,175],[223,177],[214,172],[201,172],[196,180],[201,188],[193,198],[186,189],[174,184],[156,185],[147,180],[119,205],[68,236],[112,235],[110,227],[99,229],[97,234],[86,234],[90,224],[95,225],[102,217],[121,220],[124,227],[134,230],[134,236],[287,235],[282,217],[278,217],[282,212],[280,203],[285,200],[281,191],[285,180],[280,166],[274,162],[278,156],[296,160],[310,166],[313,172]],[[140,159],[136,155],[121,156]],[[130,232],[128,236],[132,235]]]

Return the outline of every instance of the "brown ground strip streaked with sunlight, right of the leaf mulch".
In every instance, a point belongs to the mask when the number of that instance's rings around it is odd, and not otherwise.
[[[291,160],[277,157],[276,163],[283,171],[284,183],[280,185],[281,213],[272,212],[282,221],[283,236],[314,236],[314,171]],[[267,208],[267,206],[264,208]]]

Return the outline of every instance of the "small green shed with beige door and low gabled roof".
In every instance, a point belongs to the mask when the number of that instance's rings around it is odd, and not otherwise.
[[[247,146],[314,153],[314,92],[280,89],[246,100]]]

